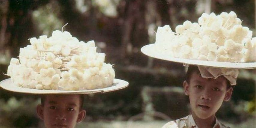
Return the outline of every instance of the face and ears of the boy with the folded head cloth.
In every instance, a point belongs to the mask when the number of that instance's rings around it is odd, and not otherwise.
[[[223,76],[205,79],[199,73],[192,73],[189,83],[183,83],[185,94],[189,96],[192,115],[207,119],[215,116],[223,101],[228,101],[233,88],[227,89]]]

